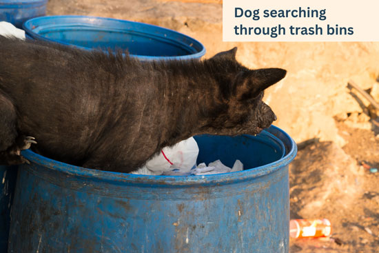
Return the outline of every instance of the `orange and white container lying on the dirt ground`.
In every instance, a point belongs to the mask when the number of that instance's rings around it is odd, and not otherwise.
[[[331,234],[328,219],[295,219],[289,221],[289,236],[292,238],[322,237]]]

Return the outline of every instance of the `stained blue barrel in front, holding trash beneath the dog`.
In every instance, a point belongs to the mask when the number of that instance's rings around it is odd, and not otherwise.
[[[249,169],[145,176],[23,151],[31,164],[19,167],[9,252],[288,252],[294,141],[274,126],[195,139],[198,162],[240,159]]]

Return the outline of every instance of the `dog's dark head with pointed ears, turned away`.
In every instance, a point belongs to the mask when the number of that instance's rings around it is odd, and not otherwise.
[[[203,132],[236,135],[258,134],[268,128],[276,115],[262,101],[263,91],[285,77],[286,70],[249,70],[236,61],[237,48],[220,52],[205,61],[212,69],[216,94],[209,105]]]

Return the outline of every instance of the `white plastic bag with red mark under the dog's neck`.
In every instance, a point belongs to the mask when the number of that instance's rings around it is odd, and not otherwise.
[[[132,174],[160,175],[174,169],[189,172],[196,166],[198,145],[193,137],[176,143],[172,147],[165,147],[158,156],[147,161],[143,168]]]

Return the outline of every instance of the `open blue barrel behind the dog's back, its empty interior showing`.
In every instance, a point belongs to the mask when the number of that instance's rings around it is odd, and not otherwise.
[[[51,16],[23,24],[27,37],[79,48],[123,49],[143,60],[194,59],[204,46],[185,34],[146,23],[86,16]]]

